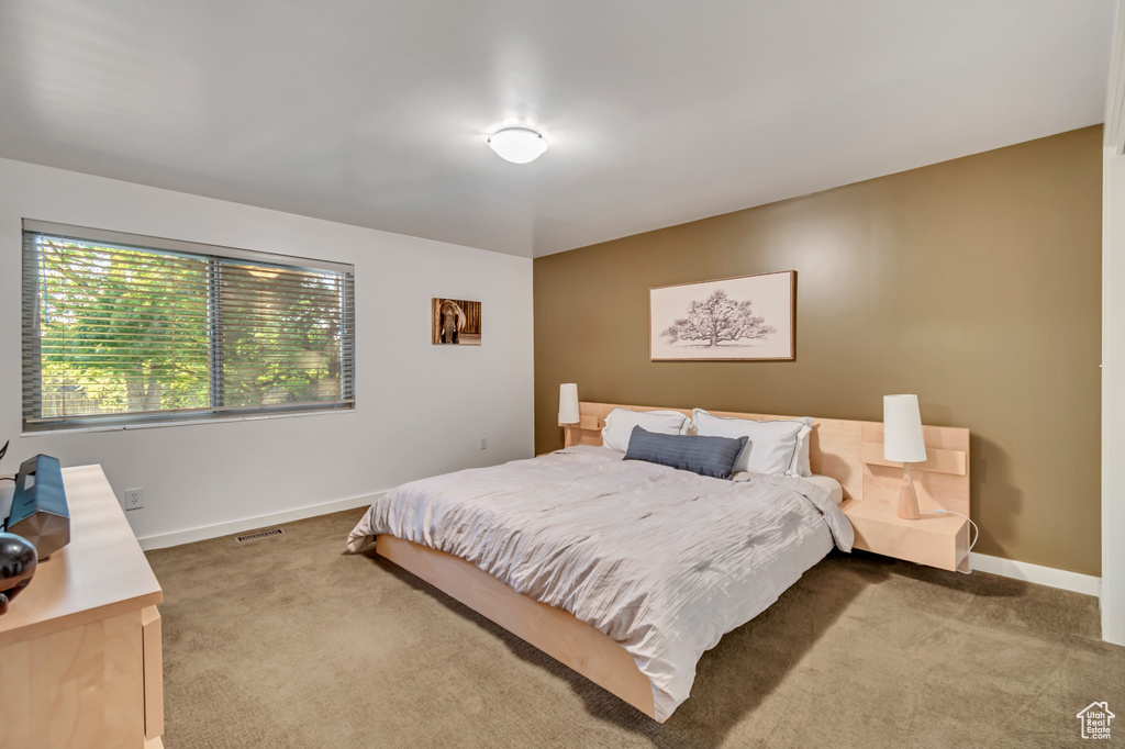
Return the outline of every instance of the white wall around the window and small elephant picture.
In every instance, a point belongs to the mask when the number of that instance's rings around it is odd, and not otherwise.
[[[21,218],[354,263],[356,412],[21,435]],[[525,258],[0,159],[0,472],[37,453],[101,463],[118,499],[144,488],[126,513],[140,538],[183,539],[530,458],[531,288]],[[483,345],[431,344],[432,297],[480,300]]]

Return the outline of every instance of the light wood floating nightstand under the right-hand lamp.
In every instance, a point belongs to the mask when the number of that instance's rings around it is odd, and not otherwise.
[[[921,512],[902,520],[893,505],[848,499],[840,509],[855,529],[855,548],[947,570],[970,571],[969,521]]]

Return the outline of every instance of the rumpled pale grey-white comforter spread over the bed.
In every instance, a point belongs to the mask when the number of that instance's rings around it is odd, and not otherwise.
[[[732,482],[601,449],[464,470],[388,491],[348,538],[389,533],[466,559],[610,635],[652,683],[656,718],[695,665],[853,531],[801,479]]]

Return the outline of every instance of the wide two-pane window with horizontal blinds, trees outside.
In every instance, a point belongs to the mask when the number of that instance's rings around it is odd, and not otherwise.
[[[352,267],[24,220],[24,428],[354,407]]]

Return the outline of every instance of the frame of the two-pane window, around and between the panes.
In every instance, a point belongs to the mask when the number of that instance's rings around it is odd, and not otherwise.
[[[110,246],[172,253],[207,260],[209,406],[202,408],[169,408],[162,410],[118,412],[75,416],[42,416],[43,369],[40,359],[42,339],[39,336],[39,263],[38,250],[34,249],[36,243],[35,237],[42,235],[83,244],[97,245],[104,243]],[[22,387],[20,388],[20,395],[22,400],[24,433],[39,434],[64,430],[172,426],[187,423],[244,419],[248,417],[261,418],[310,415],[316,413],[350,413],[356,409],[356,269],[351,263],[72,226],[28,218],[22,219],[21,241],[22,357],[20,366]],[[342,392],[339,399],[258,406],[226,406],[222,403],[224,346],[220,304],[222,261],[261,263],[287,270],[315,273],[330,272],[341,277],[340,379]]]

